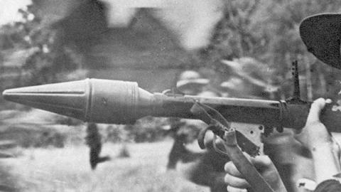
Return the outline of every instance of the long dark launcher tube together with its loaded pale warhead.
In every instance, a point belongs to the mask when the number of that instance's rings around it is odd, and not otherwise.
[[[85,122],[107,124],[132,124],[146,116],[195,119],[190,109],[195,102],[200,102],[214,108],[230,122],[301,129],[310,109],[310,103],[294,100],[168,95],[143,90],[136,82],[99,79],[21,87],[5,90],[3,95],[12,102]],[[341,110],[337,106],[325,107],[321,119],[331,132],[341,132]]]

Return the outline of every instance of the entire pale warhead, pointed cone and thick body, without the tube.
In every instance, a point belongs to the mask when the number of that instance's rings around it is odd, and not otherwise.
[[[133,123],[139,118],[139,100],[148,102],[153,96],[136,82],[99,79],[21,87],[5,90],[3,95],[5,100],[85,122],[114,124]]]

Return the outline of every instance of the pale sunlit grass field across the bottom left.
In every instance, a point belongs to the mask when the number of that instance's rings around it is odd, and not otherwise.
[[[180,171],[166,171],[171,142],[129,144],[129,159],[118,159],[119,144],[104,144],[112,160],[92,171],[86,146],[21,149],[16,159],[1,159],[18,191],[209,191],[187,181]]]

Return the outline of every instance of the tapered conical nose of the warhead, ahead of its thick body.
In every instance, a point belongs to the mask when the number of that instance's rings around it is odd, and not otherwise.
[[[85,120],[89,80],[61,82],[5,90],[5,100]]]

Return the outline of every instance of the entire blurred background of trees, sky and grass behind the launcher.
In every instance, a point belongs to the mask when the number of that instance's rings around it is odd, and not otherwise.
[[[0,0],[0,91],[102,78],[150,92],[178,86],[190,95],[283,100],[298,60],[303,99],[335,98],[340,71],[307,52],[298,27],[306,16],[340,10],[332,0]],[[84,123],[0,98],[0,151],[9,157],[0,160],[0,188],[208,191],[162,171],[173,124],[99,124],[112,160],[92,171]]]

